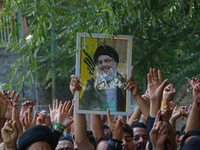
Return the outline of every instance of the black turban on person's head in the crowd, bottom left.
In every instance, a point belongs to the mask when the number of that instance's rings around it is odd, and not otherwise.
[[[50,128],[42,125],[37,125],[26,130],[20,137],[18,142],[18,150],[25,150],[35,142],[46,142],[51,146],[51,149],[56,148],[53,132]]]

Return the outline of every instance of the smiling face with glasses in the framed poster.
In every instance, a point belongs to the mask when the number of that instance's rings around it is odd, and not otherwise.
[[[98,57],[98,69],[103,74],[108,74],[113,66],[117,64],[114,59],[108,55],[100,55]]]

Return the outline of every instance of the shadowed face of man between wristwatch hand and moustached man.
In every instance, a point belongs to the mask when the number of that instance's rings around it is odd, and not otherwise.
[[[128,132],[123,132],[122,150],[134,150],[133,138]]]

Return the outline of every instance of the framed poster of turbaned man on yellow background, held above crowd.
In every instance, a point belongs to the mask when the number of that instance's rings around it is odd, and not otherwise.
[[[124,90],[131,75],[132,36],[77,34],[75,113],[128,115],[131,93]]]

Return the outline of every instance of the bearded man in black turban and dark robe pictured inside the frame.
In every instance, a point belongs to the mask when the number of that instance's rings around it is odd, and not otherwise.
[[[107,45],[99,46],[94,53],[94,62],[97,74],[87,81],[79,109],[126,111],[126,79],[117,72],[117,51]]]

